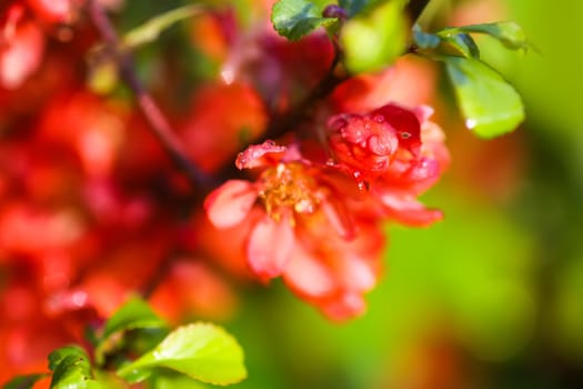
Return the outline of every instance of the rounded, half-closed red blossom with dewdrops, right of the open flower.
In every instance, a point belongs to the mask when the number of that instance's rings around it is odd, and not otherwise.
[[[429,117],[433,110],[388,104],[366,114],[339,114],[328,122],[334,166],[369,189],[369,211],[405,225],[428,226],[442,218],[416,197],[449,163],[443,133]]]

